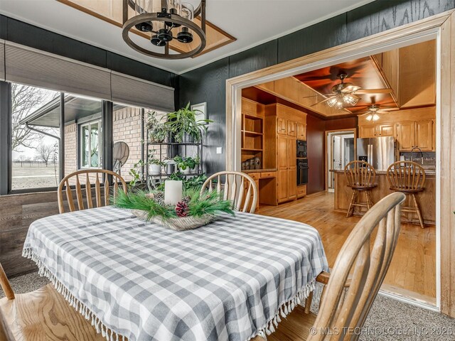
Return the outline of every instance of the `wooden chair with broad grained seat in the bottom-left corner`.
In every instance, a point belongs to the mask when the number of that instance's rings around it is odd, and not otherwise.
[[[48,284],[31,293],[15,294],[0,264],[0,340],[102,341],[91,323]]]

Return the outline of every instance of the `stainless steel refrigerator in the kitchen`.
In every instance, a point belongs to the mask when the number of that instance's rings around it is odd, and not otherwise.
[[[357,139],[357,160],[370,163],[376,171],[387,171],[395,162],[395,139],[393,136]]]

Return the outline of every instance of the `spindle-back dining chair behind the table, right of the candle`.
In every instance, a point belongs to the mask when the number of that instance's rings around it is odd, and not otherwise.
[[[232,200],[232,206],[235,210],[255,212],[258,191],[255,180],[250,175],[232,171],[215,173],[205,180],[200,193],[203,193],[204,190],[212,192],[213,187],[218,193],[223,191],[224,200]]]

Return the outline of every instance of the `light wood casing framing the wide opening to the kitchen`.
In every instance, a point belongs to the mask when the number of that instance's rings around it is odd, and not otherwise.
[[[455,92],[455,80],[451,75],[451,65],[455,65],[455,54],[442,53],[442,46],[451,46],[455,39],[455,14],[447,11],[441,15],[427,18],[398,28],[378,33],[375,36],[355,40],[336,48],[322,50],[296,60],[267,67],[264,70],[250,72],[227,80],[226,84],[226,166],[228,170],[240,171],[240,126],[241,126],[241,92],[242,88],[272,82],[290,77],[301,72],[309,72],[321,67],[329,67],[335,63],[346,62],[352,58],[374,55],[384,50],[400,48],[417,44],[423,41],[437,40],[437,103],[435,120],[435,143],[437,161],[435,178],[435,192],[437,212],[436,221],[436,303],[427,304],[419,300],[412,300],[400,293],[390,296],[410,304],[434,309],[449,315],[455,315],[455,301],[451,299],[455,291],[455,272],[441,273],[441,269],[451,269],[455,264],[453,245],[455,236],[451,233],[453,226],[453,203],[450,198],[455,195],[455,171],[451,166],[451,158],[441,156],[452,155],[455,145],[451,139],[451,131],[455,129],[454,102],[452,93]],[[444,174],[444,176],[441,176]],[[443,241],[443,242],[441,242]],[[441,291],[444,288],[444,291]],[[384,291],[382,291],[384,293]]]

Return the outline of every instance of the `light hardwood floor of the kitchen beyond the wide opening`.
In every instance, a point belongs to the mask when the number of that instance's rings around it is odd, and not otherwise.
[[[333,212],[333,193],[321,192],[279,206],[261,205],[257,213],[304,222],[321,234],[328,266],[360,217]],[[436,227],[402,224],[382,289],[436,304]]]

